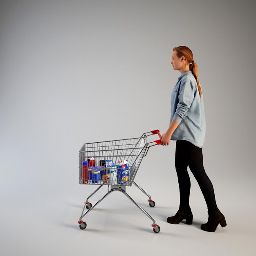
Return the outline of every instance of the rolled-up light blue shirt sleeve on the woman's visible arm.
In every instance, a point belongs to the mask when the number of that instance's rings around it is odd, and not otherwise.
[[[192,81],[186,80],[180,85],[179,102],[173,116],[174,121],[180,123],[188,115],[189,108],[194,99],[194,92],[195,88]]]

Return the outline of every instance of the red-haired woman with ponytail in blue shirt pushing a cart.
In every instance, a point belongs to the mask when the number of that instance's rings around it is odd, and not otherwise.
[[[204,171],[202,146],[205,136],[205,117],[202,90],[198,80],[198,67],[193,60],[191,49],[186,46],[173,48],[173,70],[181,76],[171,94],[170,126],[161,137],[163,146],[176,140],[175,168],[180,188],[180,208],[167,222],[178,224],[186,220],[192,224],[193,214],[189,207],[190,179],[189,166],[195,176],[208,208],[208,222],[201,225],[204,231],[214,232],[217,226],[225,227],[226,220],[217,207],[213,185]]]

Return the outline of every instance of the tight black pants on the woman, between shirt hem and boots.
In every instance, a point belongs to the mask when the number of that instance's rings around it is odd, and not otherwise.
[[[213,185],[204,171],[202,148],[189,141],[177,140],[175,152],[175,168],[180,188],[180,205],[189,206],[190,178],[187,168],[190,168],[204,195],[209,211],[218,209]]]

